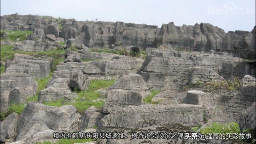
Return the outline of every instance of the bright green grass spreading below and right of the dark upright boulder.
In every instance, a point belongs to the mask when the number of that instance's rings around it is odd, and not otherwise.
[[[90,85],[88,87],[88,90],[86,91],[77,91],[78,98],[75,100],[75,102],[64,102],[63,100],[57,100],[57,101],[50,101],[50,102],[44,102],[44,104],[48,106],[64,106],[64,105],[73,105],[77,108],[79,112],[83,112],[87,108],[90,108],[91,106],[94,106],[96,108],[101,108],[104,104],[102,100],[97,100],[98,98],[102,98],[99,92],[95,92],[95,90],[99,90],[101,88],[106,88],[109,86],[112,86],[114,84],[115,80],[92,80],[90,82]]]

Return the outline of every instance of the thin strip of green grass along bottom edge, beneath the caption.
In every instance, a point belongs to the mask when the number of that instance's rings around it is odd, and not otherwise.
[[[90,142],[90,141],[94,141],[94,140],[95,139],[61,139],[55,143],[49,142],[49,141],[44,141],[44,142],[36,142],[34,144],[74,144],[74,143]]]

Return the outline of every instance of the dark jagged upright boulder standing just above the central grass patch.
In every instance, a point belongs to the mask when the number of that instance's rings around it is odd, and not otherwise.
[[[72,89],[87,90],[90,84],[90,79],[83,74],[82,71],[78,71],[70,77],[69,86]]]

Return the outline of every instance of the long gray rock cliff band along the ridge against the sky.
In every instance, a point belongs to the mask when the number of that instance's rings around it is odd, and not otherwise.
[[[113,46],[139,46],[141,48],[168,45],[172,49],[226,52],[230,56],[255,59],[255,27],[251,32],[224,32],[208,23],[194,26],[175,26],[174,22],[151,26],[124,22],[78,22],[52,17],[6,15],[1,16],[2,30],[32,30],[38,35],[75,39],[87,47],[112,48]],[[59,30],[58,25],[62,29]]]

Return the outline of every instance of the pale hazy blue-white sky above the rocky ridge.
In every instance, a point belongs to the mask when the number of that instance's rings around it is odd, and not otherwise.
[[[210,23],[229,30],[251,31],[255,0],[0,0],[1,16],[38,14],[76,20],[122,21],[176,26]]]

